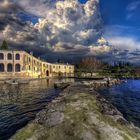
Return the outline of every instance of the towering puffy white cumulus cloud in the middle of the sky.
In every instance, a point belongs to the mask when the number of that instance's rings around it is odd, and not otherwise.
[[[94,46],[101,36],[99,0],[89,0],[86,4],[78,0],[21,0],[17,3],[40,17],[35,28],[53,48],[59,42]]]

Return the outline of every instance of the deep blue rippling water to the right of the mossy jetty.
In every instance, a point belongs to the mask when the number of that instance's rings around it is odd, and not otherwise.
[[[126,83],[99,92],[120,110],[124,117],[140,127],[140,80],[128,80]]]

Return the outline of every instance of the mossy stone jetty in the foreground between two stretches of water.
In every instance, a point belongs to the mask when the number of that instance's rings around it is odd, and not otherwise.
[[[73,84],[11,140],[140,140],[140,129],[89,85]]]

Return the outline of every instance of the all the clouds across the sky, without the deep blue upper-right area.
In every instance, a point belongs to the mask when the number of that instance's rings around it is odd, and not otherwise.
[[[136,1],[127,7],[128,19],[138,5]],[[140,52],[134,50],[140,49],[140,42],[133,32],[129,26],[105,27],[111,49],[102,37],[99,0],[85,4],[78,0],[0,0],[0,41],[6,39],[10,47],[33,51],[49,61],[93,55],[112,62],[138,61]]]

